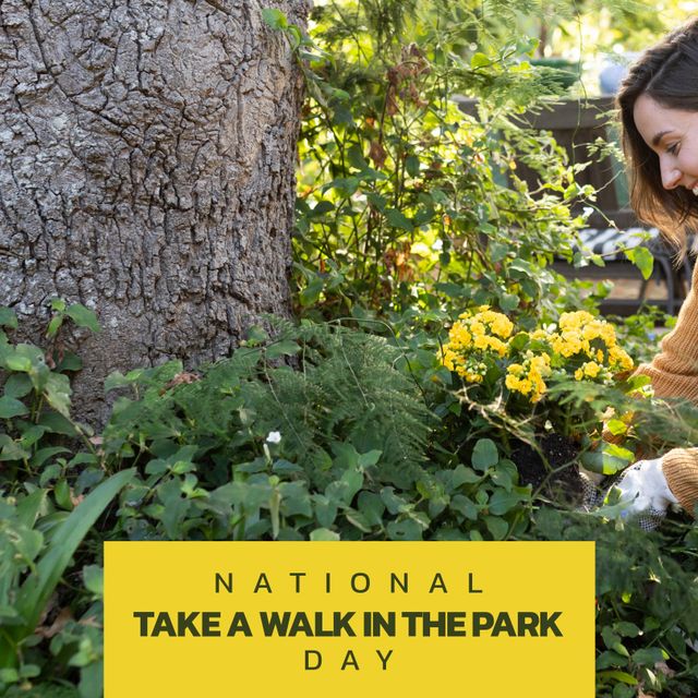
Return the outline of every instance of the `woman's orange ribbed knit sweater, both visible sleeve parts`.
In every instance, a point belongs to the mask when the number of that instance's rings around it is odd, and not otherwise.
[[[683,397],[698,402],[698,264],[691,289],[672,332],[661,341],[661,352],[636,373],[651,378],[658,397]],[[679,504],[694,514],[698,504],[698,448],[674,448],[664,455],[662,469]]]

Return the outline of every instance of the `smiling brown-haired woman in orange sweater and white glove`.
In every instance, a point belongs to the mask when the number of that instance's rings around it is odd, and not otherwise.
[[[667,35],[630,67],[617,97],[623,148],[638,217],[664,231],[683,253],[698,231],[698,20]],[[637,373],[658,397],[698,402],[698,265],[678,322],[661,353]],[[628,510],[663,514],[698,504],[698,448],[675,448],[629,468],[616,485]]]

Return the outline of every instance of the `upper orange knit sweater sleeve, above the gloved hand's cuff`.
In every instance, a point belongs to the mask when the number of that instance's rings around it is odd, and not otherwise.
[[[660,347],[652,362],[640,364],[635,375],[649,376],[658,397],[683,397],[698,402],[698,264],[676,326]]]

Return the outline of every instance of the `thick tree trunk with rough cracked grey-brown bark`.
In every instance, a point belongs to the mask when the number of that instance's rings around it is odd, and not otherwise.
[[[51,297],[97,311],[83,418],[110,371],[288,313],[302,85],[272,4],[303,24],[305,0],[0,2],[0,305],[35,340]]]

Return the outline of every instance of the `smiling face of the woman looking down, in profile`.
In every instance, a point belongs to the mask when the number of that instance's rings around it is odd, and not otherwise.
[[[645,143],[659,156],[664,189],[685,186],[698,196],[698,111],[662,107],[640,95],[633,118]]]

